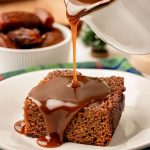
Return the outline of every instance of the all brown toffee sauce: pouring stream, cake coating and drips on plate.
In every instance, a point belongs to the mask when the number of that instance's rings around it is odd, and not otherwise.
[[[76,74],[76,36],[79,19],[85,13],[80,6],[104,4],[109,0],[70,0],[66,4],[67,17],[70,22],[73,43],[73,76],[55,77],[33,88],[28,95],[43,116],[46,135],[39,137],[37,143],[43,147],[57,147],[63,143],[64,131],[71,119],[85,106],[102,101],[110,93],[110,88],[99,78]],[[70,7],[76,13],[69,12]],[[80,9],[76,9],[76,7]],[[19,133],[24,132],[23,122],[15,124]]]

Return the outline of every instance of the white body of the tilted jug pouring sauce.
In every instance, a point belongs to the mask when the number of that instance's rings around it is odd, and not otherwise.
[[[118,50],[150,53],[150,1],[115,0],[81,18],[95,33]]]

